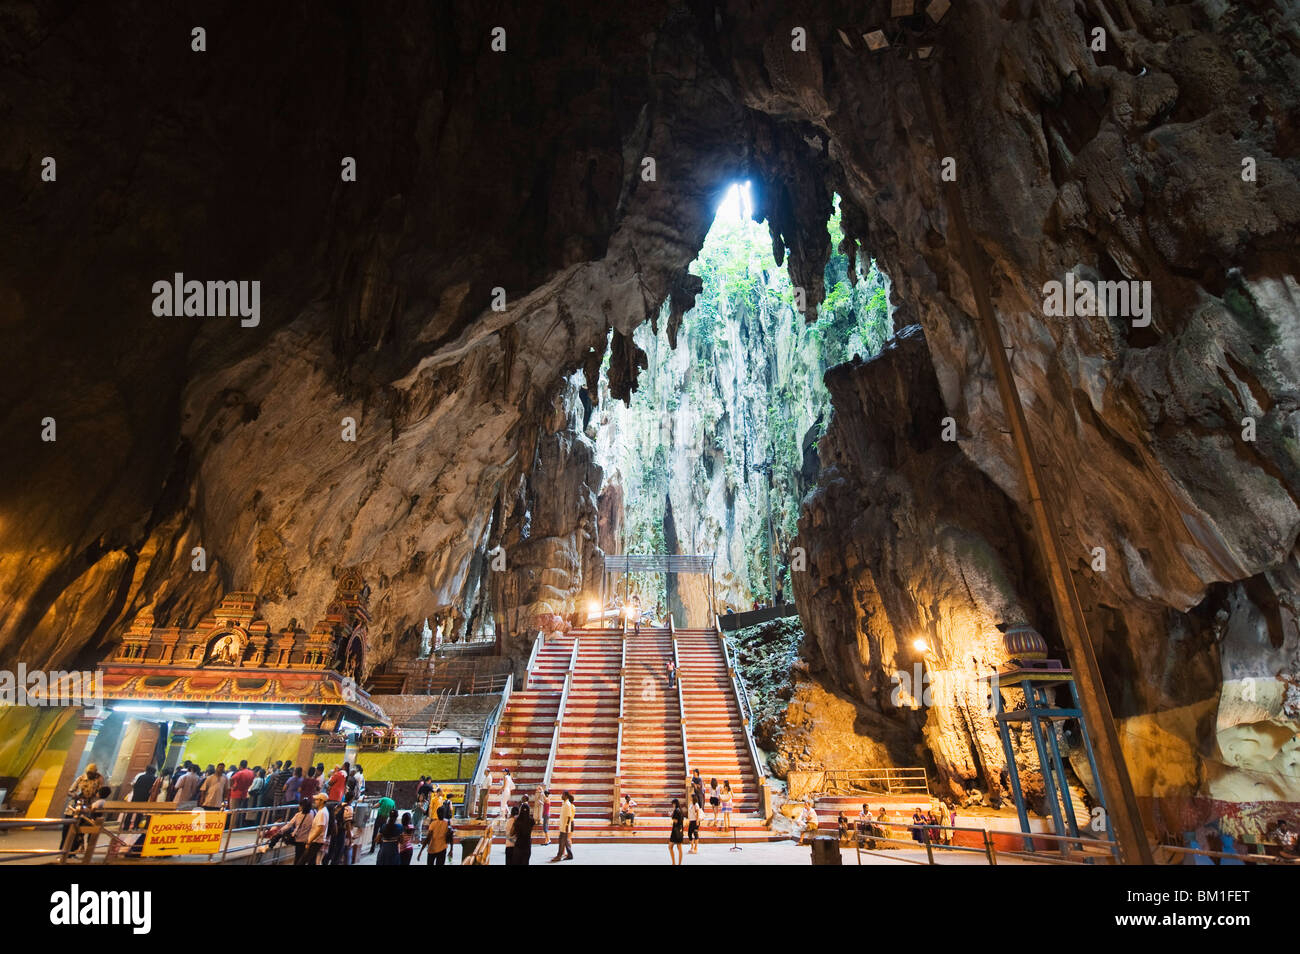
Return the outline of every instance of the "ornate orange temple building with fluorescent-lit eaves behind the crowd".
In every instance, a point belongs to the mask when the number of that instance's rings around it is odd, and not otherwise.
[[[337,733],[389,725],[360,686],[368,602],[369,587],[350,571],[311,630],[291,620],[272,632],[252,593],[226,594],[195,626],[157,626],[142,613],[99,667],[101,704],[48,727],[58,769],[34,753],[14,794],[27,795],[27,815],[57,815],[90,763],[114,788],[146,766],[185,759],[307,766]]]

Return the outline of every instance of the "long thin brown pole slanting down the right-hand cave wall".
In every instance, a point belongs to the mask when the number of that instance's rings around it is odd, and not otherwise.
[[[909,45],[910,42],[909,42]],[[914,49],[914,48],[913,48]],[[930,88],[926,70],[922,69],[920,60],[913,56],[913,68],[916,73],[916,84],[920,87],[920,97],[924,100],[926,116],[930,120],[930,131],[935,139],[935,149],[940,157],[950,156],[944,140],[942,125],[935,108],[935,97]],[[997,380],[997,393],[1002,399],[1002,409],[1006,413],[1008,426],[1011,429],[1011,443],[1020,465],[1020,476],[1024,480],[1024,493],[1028,498],[1030,516],[1034,521],[1034,534],[1037,537],[1039,550],[1043,561],[1046,564],[1048,584],[1052,589],[1052,604],[1056,608],[1057,625],[1061,637],[1065,639],[1070,660],[1074,663],[1075,678],[1079,682],[1079,703],[1088,725],[1096,730],[1097,750],[1097,784],[1109,793],[1106,799],[1110,806],[1108,823],[1115,833],[1115,841],[1123,853],[1124,860],[1135,864],[1152,864],[1150,844],[1141,823],[1141,811],[1138,807],[1138,798],[1134,794],[1132,781],[1128,777],[1128,766],[1124,763],[1123,749],[1119,746],[1119,733],[1115,730],[1115,717],[1110,711],[1110,701],[1106,698],[1106,689],[1101,681],[1101,669],[1097,665],[1096,654],[1092,650],[1092,638],[1088,636],[1088,623],[1084,619],[1083,608],[1079,606],[1079,594],[1074,589],[1074,578],[1070,576],[1070,559],[1061,542],[1061,533],[1057,528],[1056,515],[1044,499],[1044,481],[1039,468],[1037,455],[1034,450],[1034,441],[1030,437],[1030,426],[1024,419],[1024,408],[1020,404],[1020,394],[1015,387],[1015,378],[1011,374],[1011,363],[1006,357],[1002,344],[1002,331],[993,316],[993,303],[984,279],[984,270],[979,266],[975,240],[971,237],[970,226],[966,222],[966,212],[962,208],[962,195],[953,181],[942,181],[941,188],[948,205],[948,214],[957,226],[957,238],[962,255],[962,265],[970,278],[971,291],[975,295],[975,309],[979,321],[978,328],[984,341],[984,350],[988,352],[989,364],[993,365],[993,376]],[[1046,772],[1046,766],[1044,766]]]

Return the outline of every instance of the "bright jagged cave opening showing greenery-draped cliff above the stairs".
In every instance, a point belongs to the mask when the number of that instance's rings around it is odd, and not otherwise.
[[[670,337],[668,304],[633,333],[647,368],[627,403],[601,376],[588,435],[618,489],[614,552],[711,554],[715,590],[692,576],[632,574],[629,597],[654,620],[712,625],[712,613],[792,598],[790,547],[800,503],[816,481],[818,439],[831,417],[826,372],[879,352],[892,333],[889,279],[875,261],[854,269],[840,248],[835,196],[826,296],[815,304],[776,264],[754,187],[720,190],[690,264],[701,282]],[[811,317],[811,320],[807,320]],[[610,356],[604,357],[607,372]],[[612,528],[606,528],[611,530]],[[712,603],[712,606],[710,606]]]

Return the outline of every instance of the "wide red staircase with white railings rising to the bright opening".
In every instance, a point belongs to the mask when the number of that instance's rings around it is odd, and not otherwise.
[[[680,691],[668,688],[675,652]],[[699,768],[706,782],[731,780],[737,840],[774,837],[760,814],[760,780],[722,641],[711,630],[642,626],[627,636],[581,629],[549,637],[525,688],[507,702],[489,768],[498,785],[510,768],[512,802],[549,780],[552,829],[560,794],[572,792],[578,842],[667,841],[672,799],[686,803],[689,768]],[[632,828],[615,823],[619,793],[637,802]],[[494,793],[490,815],[497,805]],[[701,840],[731,841],[732,833],[714,832],[710,816]]]

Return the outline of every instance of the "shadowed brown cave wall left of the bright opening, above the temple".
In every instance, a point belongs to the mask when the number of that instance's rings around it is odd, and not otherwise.
[[[372,664],[468,616],[556,381],[658,312],[746,148],[688,12],[495,13],[502,55],[477,6],[233,5],[192,53],[142,4],[6,8],[0,655],[92,660],[234,587],[307,619],[344,567]],[[260,324],[155,317],[174,272],[261,281]]]

